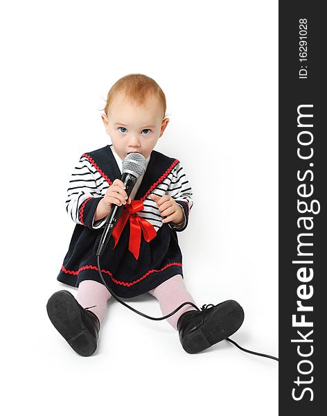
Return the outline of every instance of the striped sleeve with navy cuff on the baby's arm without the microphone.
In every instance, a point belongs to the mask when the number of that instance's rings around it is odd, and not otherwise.
[[[188,225],[188,216],[190,214],[191,208],[193,207],[193,193],[191,184],[188,181],[184,168],[180,162],[178,162],[173,168],[172,173],[173,180],[170,182],[166,194],[174,198],[177,204],[182,207],[184,213],[184,221],[178,225],[171,222],[168,223],[168,225],[175,231],[180,232],[184,231]]]

